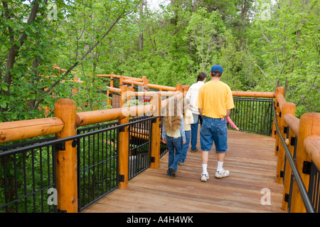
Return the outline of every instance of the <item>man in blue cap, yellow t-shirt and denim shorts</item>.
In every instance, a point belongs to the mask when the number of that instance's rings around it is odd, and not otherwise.
[[[222,74],[223,68],[220,65],[213,65],[210,70],[211,80],[202,85],[198,93],[198,110],[203,117],[200,130],[203,167],[201,181],[209,179],[208,157],[213,142],[215,142],[215,152],[218,154],[218,168],[215,171],[215,177],[229,176],[229,171],[223,169],[225,152],[228,149],[226,118],[235,105],[230,87],[220,81]]]

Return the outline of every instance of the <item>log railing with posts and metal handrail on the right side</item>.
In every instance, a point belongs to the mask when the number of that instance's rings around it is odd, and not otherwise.
[[[282,209],[319,212],[320,114],[309,112],[300,119],[295,117],[296,106],[285,100],[284,88],[277,88],[274,105],[276,181],[284,184]],[[318,176],[310,175],[311,165],[318,169]],[[317,177],[318,185],[313,188],[309,188],[311,177]]]

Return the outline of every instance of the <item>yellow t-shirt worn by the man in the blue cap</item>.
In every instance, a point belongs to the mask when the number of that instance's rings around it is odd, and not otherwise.
[[[203,116],[225,117],[227,110],[235,107],[233,93],[226,83],[210,80],[199,89],[197,106],[203,109]]]

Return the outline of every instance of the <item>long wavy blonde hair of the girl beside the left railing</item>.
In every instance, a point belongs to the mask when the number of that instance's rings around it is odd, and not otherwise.
[[[181,115],[179,115],[178,99],[176,97],[169,98],[169,103],[166,106],[166,115],[164,116],[164,127],[166,132],[174,133],[180,129]]]

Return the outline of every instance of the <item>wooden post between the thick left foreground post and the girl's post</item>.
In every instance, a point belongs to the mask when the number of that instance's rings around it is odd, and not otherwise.
[[[120,85],[121,89],[121,107],[124,107],[125,102],[127,102],[127,86]],[[129,116],[124,117],[124,119],[119,120],[119,124],[125,124],[129,122]],[[119,189],[127,189],[128,186],[128,165],[129,165],[129,131],[128,127],[121,128],[119,131]]]

